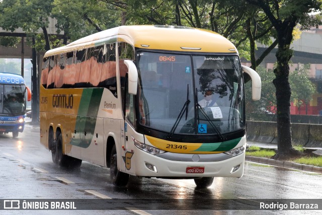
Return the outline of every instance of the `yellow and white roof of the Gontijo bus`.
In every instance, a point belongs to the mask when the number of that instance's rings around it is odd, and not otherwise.
[[[49,50],[46,56],[93,47],[107,41],[125,41],[144,49],[237,53],[235,46],[223,36],[204,29],[182,26],[119,26],[78,39],[66,46]]]

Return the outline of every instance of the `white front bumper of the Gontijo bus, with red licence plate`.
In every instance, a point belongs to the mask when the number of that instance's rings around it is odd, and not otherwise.
[[[160,158],[141,150],[136,150],[127,173],[142,177],[196,178],[196,177],[241,177],[244,173],[245,153],[229,159],[213,162],[185,162]],[[202,173],[194,173],[191,169]],[[203,170],[202,170],[203,169]],[[188,173],[193,172],[193,173]]]

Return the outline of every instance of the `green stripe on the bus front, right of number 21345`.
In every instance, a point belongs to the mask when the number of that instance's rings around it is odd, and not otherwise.
[[[194,152],[227,152],[237,146],[240,139],[241,137],[224,142],[202,144]]]

